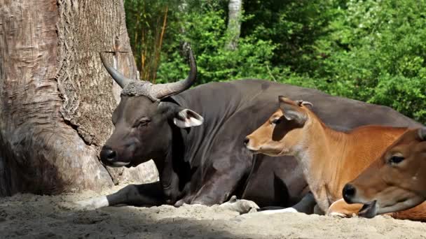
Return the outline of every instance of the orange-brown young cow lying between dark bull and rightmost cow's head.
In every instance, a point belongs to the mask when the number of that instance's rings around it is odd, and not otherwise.
[[[311,103],[291,101],[283,96],[279,96],[279,101],[280,109],[247,136],[246,147],[270,156],[296,157],[322,211],[340,216],[357,213],[362,204],[345,203],[343,186],[407,129],[362,126],[343,133],[330,129],[312,113],[306,107]],[[424,212],[426,215],[426,208]]]

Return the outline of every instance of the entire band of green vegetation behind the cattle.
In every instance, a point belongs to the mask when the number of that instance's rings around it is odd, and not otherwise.
[[[275,80],[391,106],[426,123],[426,1],[242,0],[235,49],[226,48],[228,3],[125,0],[142,79],[184,78],[188,42],[198,84]]]

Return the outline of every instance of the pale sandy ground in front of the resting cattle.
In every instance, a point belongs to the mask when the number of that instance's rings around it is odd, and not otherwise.
[[[426,224],[387,217],[240,216],[201,205],[79,210],[69,203],[117,189],[0,198],[0,238],[426,238]]]

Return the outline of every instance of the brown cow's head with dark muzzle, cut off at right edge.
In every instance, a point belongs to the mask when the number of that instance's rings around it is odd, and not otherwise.
[[[404,133],[369,168],[345,185],[343,196],[348,203],[364,203],[364,217],[406,210],[425,201],[426,128]],[[425,214],[415,209],[405,212],[424,220]],[[404,217],[403,212],[397,213]]]

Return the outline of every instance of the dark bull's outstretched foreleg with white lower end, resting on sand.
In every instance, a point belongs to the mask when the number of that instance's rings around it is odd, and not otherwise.
[[[102,208],[118,204],[153,206],[165,203],[163,187],[160,182],[148,184],[130,184],[114,194],[78,201],[76,204],[83,208]]]

